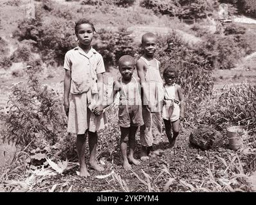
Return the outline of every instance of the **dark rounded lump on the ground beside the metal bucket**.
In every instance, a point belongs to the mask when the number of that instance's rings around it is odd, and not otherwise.
[[[206,125],[199,125],[189,136],[189,142],[192,147],[203,151],[218,147],[223,142],[223,135],[219,131]]]

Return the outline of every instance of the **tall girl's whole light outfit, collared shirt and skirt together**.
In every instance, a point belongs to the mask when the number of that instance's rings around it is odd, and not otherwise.
[[[104,128],[104,115],[95,116],[92,109],[98,100],[97,76],[105,72],[101,54],[91,48],[85,53],[79,46],[65,55],[64,69],[71,71],[68,133],[84,134]]]

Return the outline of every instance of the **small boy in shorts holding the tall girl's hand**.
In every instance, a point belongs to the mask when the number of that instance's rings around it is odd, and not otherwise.
[[[140,79],[133,76],[135,61],[132,56],[122,56],[118,61],[118,69],[122,75],[113,83],[111,100],[119,92],[120,102],[118,111],[118,123],[121,130],[120,147],[123,157],[123,168],[128,170],[131,164],[139,165],[140,161],[134,159],[135,134],[139,126],[143,125],[142,99],[140,95]],[[105,107],[107,107],[105,106]],[[127,157],[127,143],[129,143],[129,155]]]

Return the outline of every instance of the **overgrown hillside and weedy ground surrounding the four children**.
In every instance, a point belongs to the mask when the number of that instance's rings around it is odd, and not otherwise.
[[[255,1],[1,2],[1,191],[253,190]],[[99,132],[97,158],[105,167],[104,175],[90,170],[92,177],[83,179],[75,172],[75,136],[66,133],[62,108],[62,64],[64,54],[77,44],[74,25],[81,17],[95,24],[93,47],[104,57],[107,69],[105,97],[110,94],[111,82],[120,76],[116,61],[123,54],[139,56],[140,38],[145,32],[158,35],[156,56],[161,72],[167,63],[179,68],[186,120],[181,124],[178,144],[168,149],[163,132],[161,155],[133,167],[129,174],[122,170],[118,154],[116,104],[105,110],[109,123]],[[236,125],[246,126],[248,133],[244,147],[233,151],[228,147],[226,128]],[[192,147],[190,133],[201,126],[208,133],[219,131],[221,144],[209,150]]]

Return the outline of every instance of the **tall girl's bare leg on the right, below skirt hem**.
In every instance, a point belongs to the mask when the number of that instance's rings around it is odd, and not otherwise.
[[[90,152],[90,160],[89,163],[92,168],[95,170],[102,172],[104,170],[103,167],[101,167],[96,162],[96,149],[97,149],[97,143],[98,143],[98,135],[97,133],[92,133],[88,131],[88,143],[89,143],[89,152]]]

